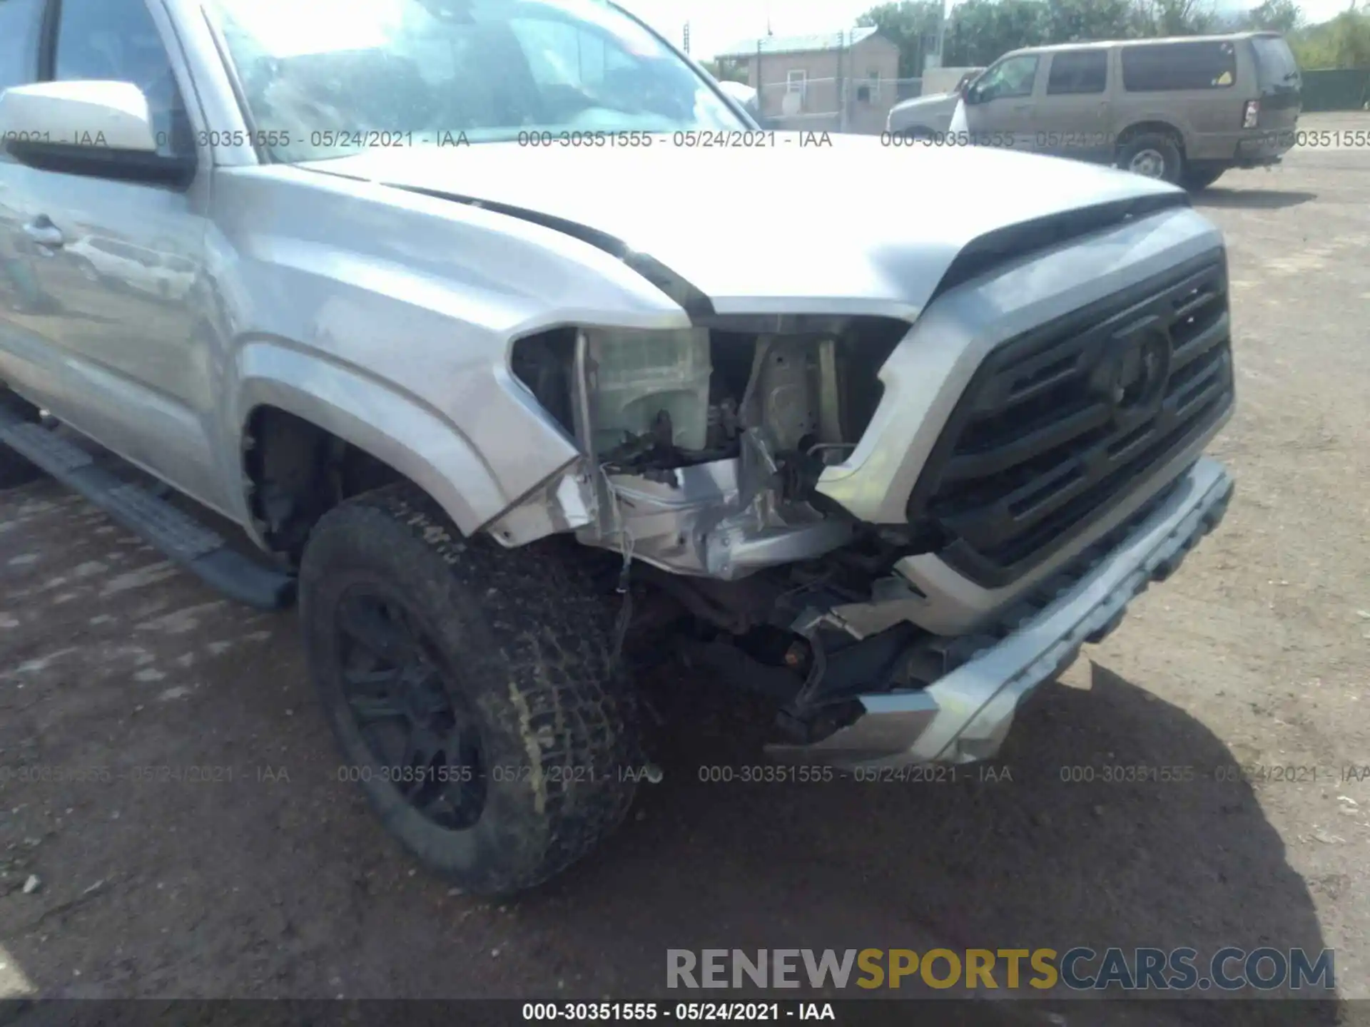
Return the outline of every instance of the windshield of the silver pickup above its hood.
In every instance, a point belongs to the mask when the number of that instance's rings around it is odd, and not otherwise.
[[[212,1],[277,160],[530,131],[747,127],[601,0]]]

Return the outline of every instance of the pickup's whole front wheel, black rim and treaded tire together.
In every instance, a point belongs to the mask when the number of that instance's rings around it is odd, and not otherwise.
[[[471,891],[551,878],[626,813],[637,735],[611,619],[574,561],[462,538],[408,485],[326,514],[300,568],[340,776]]]

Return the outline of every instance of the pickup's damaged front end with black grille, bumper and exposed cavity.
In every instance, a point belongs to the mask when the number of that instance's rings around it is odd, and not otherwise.
[[[777,757],[991,759],[1232,494],[1201,456],[1234,396],[1225,255],[1156,218],[1114,231],[1111,281],[1062,246],[917,325],[522,338],[512,374],[584,456],[492,533],[618,555],[621,630],[774,700]]]

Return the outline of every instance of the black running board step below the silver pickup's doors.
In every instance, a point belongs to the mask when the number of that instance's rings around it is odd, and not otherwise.
[[[206,585],[258,609],[295,603],[295,578],[236,552],[192,516],[96,464],[81,446],[0,403],[0,444],[81,493]]]

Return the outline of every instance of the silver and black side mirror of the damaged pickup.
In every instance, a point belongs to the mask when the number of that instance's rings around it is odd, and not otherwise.
[[[49,171],[184,183],[195,157],[158,153],[148,99],[132,82],[38,82],[0,93],[0,138]]]

